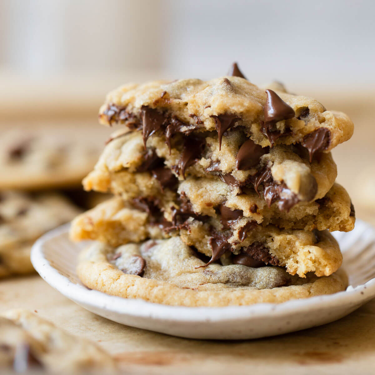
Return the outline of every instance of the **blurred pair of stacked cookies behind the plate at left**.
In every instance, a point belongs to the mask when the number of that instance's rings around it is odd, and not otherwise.
[[[80,185],[103,141],[98,132],[91,132],[87,142],[76,132],[69,126],[1,130],[0,278],[32,272],[35,240],[81,212],[57,189]]]

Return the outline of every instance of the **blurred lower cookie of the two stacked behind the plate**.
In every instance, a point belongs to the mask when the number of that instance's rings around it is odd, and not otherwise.
[[[30,249],[35,240],[80,212],[55,193],[0,192],[0,278],[33,272]]]

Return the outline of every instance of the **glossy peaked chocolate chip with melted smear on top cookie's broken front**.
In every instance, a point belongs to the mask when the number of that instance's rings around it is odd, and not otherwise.
[[[293,118],[295,113],[293,108],[285,103],[273,90],[266,90],[266,94],[267,100],[263,108],[264,123],[261,126],[261,130],[267,136],[271,145],[273,145],[280,136],[291,132],[291,129],[285,129],[284,133],[281,133],[277,129],[276,123],[281,120]]]

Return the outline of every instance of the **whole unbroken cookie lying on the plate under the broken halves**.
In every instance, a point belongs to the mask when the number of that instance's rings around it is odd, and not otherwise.
[[[292,276],[254,261],[207,267],[180,237],[112,248],[95,242],[80,254],[77,273],[87,287],[112,296],[174,306],[241,306],[281,303],[345,290],[347,277]],[[246,261],[249,264],[249,260]]]

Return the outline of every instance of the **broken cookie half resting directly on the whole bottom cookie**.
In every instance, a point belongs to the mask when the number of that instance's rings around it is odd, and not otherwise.
[[[199,217],[190,212],[172,223],[160,212],[157,217],[113,198],[74,219],[71,238],[118,246],[180,235],[183,242],[209,257],[207,264],[219,259],[228,262],[231,254],[252,254],[257,260],[268,257],[268,263],[286,267],[287,272],[301,277],[308,272],[328,276],[341,266],[339,246],[327,231],[279,229],[245,218],[229,219],[225,215]]]

